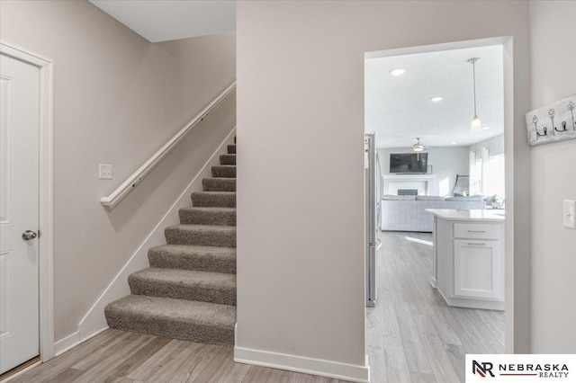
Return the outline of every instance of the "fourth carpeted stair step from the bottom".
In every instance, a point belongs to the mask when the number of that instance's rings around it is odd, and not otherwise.
[[[236,227],[212,225],[175,225],[166,227],[168,245],[236,247]]]

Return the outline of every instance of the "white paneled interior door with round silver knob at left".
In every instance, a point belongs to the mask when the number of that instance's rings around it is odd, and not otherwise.
[[[39,355],[40,69],[0,55],[0,373]],[[28,238],[24,239],[24,233]]]

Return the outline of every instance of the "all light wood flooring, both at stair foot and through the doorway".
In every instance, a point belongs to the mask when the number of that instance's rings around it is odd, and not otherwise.
[[[421,233],[382,233],[378,301],[367,309],[374,383],[464,383],[465,353],[504,352],[501,312],[447,307],[430,288],[432,247]],[[234,363],[231,347],[106,330],[12,380],[21,382],[343,383]]]

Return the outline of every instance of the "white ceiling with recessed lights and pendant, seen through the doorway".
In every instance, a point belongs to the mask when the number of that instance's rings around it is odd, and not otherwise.
[[[374,56],[374,55],[372,55]],[[473,66],[483,127],[471,133]],[[403,68],[402,76],[392,69]],[[376,132],[378,147],[468,146],[504,132],[501,46],[455,49],[365,59],[365,129]],[[442,96],[440,102],[430,98]]]

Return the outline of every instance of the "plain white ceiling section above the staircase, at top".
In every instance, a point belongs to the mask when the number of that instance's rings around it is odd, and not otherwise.
[[[236,31],[235,1],[90,0],[150,42]]]

